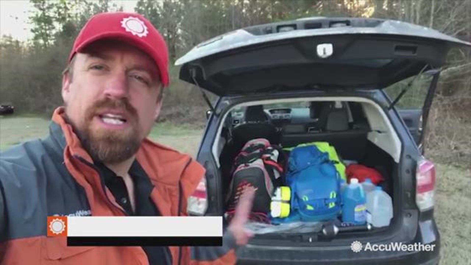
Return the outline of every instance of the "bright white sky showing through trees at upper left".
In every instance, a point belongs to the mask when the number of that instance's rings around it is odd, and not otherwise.
[[[138,0],[112,0],[124,11],[134,11]],[[32,38],[29,13],[34,10],[28,0],[0,0],[0,35],[11,35],[14,39],[26,41]]]

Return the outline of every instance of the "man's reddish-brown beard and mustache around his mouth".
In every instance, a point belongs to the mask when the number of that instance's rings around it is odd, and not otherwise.
[[[67,108],[67,106],[65,106]],[[92,121],[100,109],[119,109],[127,113],[127,123],[130,123],[130,130],[112,131],[106,129],[92,128]],[[65,111],[67,113],[67,111]],[[67,116],[66,116],[67,119]],[[94,161],[105,164],[116,164],[123,162],[139,149],[142,139],[138,132],[138,115],[127,99],[104,99],[97,101],[89,107],[84,116],[83,128],[73,126],[74,132],[79,137],[82,147],[89,153]]]

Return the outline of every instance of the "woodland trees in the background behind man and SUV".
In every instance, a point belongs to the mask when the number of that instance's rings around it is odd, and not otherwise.
[[[7,91],[2,99],[44,112],[61,103],[60,97],[52,95],[57,95],[60,72],[81,27],[97,12],[119,7],[111,0],[31,3],[32,43],[0,39],[0,90]],[[179,68],[172,66],[175,59],[202,41],[250,25],[300,17],[378,17],[431,26],[471,41],[470,0],[138,0],[135,11],[143,14],[167,42],[173,87],[166,92],[166,102],[175,99],[175,104],[199,98],[188,92],[189,85],[178,81]],[[469,89],[471,49],[453,50],[447,59],[449,69],[442,76],[447,85],[438,91],[454,95]]]

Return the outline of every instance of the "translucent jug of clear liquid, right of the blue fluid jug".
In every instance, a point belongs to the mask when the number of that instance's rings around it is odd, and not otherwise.
[[[366,221],[374,227],[388,226],[392,219],[392,199],[380,186],[366,195]]]

